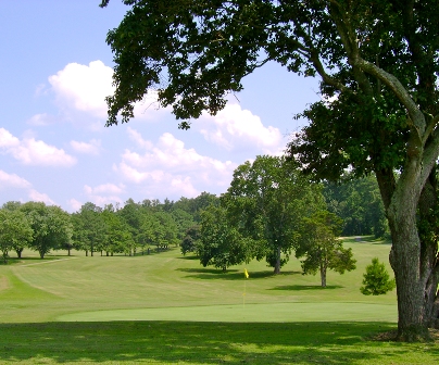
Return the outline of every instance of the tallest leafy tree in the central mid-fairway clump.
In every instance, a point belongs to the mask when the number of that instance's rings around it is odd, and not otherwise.
[[[255,256],[265,257],[275,274],[288,261],[301,218],[323,203],[292,163],[267,155],[235,169],[222,202],[242,235],[261,243]]]

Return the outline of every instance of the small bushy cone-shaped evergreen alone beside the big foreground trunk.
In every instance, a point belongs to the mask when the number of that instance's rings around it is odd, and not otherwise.
[[[378,257],[372,260],[372,264],[366,267],[363,274],[363,285],[360,291],[364,295],[380,295],[392,291],[396,287],[394,279],[390,279],[385,265],[378,261]]]

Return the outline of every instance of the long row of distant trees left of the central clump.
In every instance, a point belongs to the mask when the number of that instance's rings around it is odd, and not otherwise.
[[[217,198],[206,192],[193,199],[173,202],[129,199],[122,209],[91,202],[68,214],[42,202],[8,202],[0,209],[0,250],[7,262],[9,252],[21,257],[24,248],[41,259],[55,249],[76,249],[86,255],[100,252],[136,254],[153,246],[158,250],[179,244],[186,230],[200,221],[200,211]]]

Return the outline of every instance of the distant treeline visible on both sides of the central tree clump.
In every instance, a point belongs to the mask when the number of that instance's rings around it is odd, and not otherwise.
[[[344,184],[324,184],[327,210],[342,218],[342,235],[386,232],[386,219],[374,177],[348,179]],[[199,230],[201,214],[220,198],[202,192],[197,198],[135,202],[103,207],[91,202],[68,214],[42,202],[10,201],[0,209],[0,250],[4,262],[15,251],[35,250],[41,259],[51,250],[75,249],[86,255],[148,253],[170,246],[188,243]]]

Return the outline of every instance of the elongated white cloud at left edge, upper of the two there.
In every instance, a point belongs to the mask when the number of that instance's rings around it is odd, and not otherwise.
[[[4,128],[0,128],[0,151],[11,154],[25,165],[68,167],[76,163],[76,159],[62,149],[33,137],[20,140]]]

